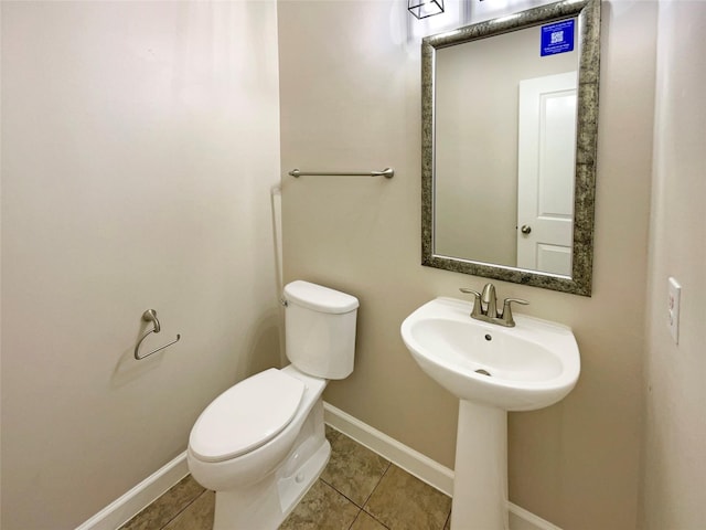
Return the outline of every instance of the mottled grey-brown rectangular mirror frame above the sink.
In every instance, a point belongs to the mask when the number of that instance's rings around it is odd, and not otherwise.
[[[577,17],[580,31],[571,276],[434,253],[435,62],[438,49]],[[566,0],[427,36],[421,42],[421,264],[457,273],[590,296],[593,263],[600,0]]]

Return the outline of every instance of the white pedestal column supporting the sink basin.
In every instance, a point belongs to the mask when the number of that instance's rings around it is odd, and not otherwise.
[[[507,412],[461,400],[451,530],[507,529]]]

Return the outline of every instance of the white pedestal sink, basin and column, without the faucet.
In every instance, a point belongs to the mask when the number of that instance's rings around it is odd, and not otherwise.
[[[504,328],[473,304],[436,298],[405,319],[413,358],[460,400],[451,530],[507,530],[507,411],[564,399],[580,372],[570,328],[515,315]]]

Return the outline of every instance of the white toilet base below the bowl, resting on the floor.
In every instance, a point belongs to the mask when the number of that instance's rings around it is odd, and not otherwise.
[[[319,400],[295,448],[274,474],[247,488],[216,491],[213,530],[276,530],[319,478],[330,456]]]

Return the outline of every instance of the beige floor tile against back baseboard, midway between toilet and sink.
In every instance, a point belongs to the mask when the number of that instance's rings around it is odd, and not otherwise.
[[[363,507],[389,462],[329,426],[327,438],[331,443],[331,459],[321,479]]]

